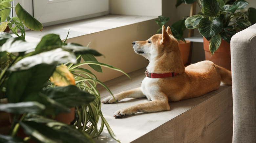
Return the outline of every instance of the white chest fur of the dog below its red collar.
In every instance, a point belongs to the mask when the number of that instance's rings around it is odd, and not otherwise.
[[[154,95],[159,92],[159,87],[153,84],[158,79],[145,77],[141,82],[141,91],[148,100],[155,100]]]

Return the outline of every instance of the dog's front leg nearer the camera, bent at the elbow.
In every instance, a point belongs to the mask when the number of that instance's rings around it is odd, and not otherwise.
[[[125,115],[135,114],[137,112],[158,112],[164,110],[170,110],[168,98],[165,94],[163,94],[163,96],[159,96],[158,99],[147,103],[140,103],[123,109],[119,109],[115,112],[114,117],[121,118]]]

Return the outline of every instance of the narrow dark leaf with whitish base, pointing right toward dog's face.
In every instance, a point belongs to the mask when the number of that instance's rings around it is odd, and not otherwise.
[[[62,45],[62,48],[66,50],[70,50],[75,54],[81,54],[81,55],[92,54],[94,56],[102,56],[102,54],[100,54],[99,52],[97,52],[92,48],[84,47],[82,45],[75,44],[75,43],[68,43],[67,45]]]

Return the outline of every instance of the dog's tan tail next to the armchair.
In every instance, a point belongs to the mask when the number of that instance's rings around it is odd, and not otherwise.
[[[215,65],[217,72],[221,75],[221,82],[225,85],[232,85],[231,71]]]

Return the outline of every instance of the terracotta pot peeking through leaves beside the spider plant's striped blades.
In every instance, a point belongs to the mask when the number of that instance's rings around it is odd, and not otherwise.
[[[54,119],[66,124],[70,124],[75,119],[75,107],[70,108],[69,113],[58,114]]]

